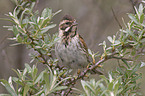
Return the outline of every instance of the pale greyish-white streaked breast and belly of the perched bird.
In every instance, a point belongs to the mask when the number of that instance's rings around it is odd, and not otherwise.
[[[88,60],[86,53],[81,50],[80,40],[77,36],[73,37],[68,44],[58,41],[55,51],[56,56],[61,63],[70,68],[78,68],[87,66]]]

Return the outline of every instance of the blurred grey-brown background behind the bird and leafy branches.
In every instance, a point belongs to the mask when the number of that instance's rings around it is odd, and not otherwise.
[[[59,24],[61,18],[70,14],[78,22],[78,31],[82,35],[88,48],[93,51],[102,51],[98,44],[107,40],[107,36],[112,36],[119,31],[120,27],[115,20],[118,19],[123,26],[122,18],[128,22],[127,13],[134,13],[133,5],[138,6],[140,0],[39,0],[35,10],[42,11],[49,7],[53,12],[61,9],[62,12],[53,18],[53,22]],[[13,11],[15,5],[11,0],[0,0],[0,18],[5,18],[4,14]],[[114,10],[115,17],[112,9]],[[24,63],[29,62],[30,57],[24,45],[10,46],[14,43],[7,38],[12,37],[13,33],[4,29],[4,25],[11,25],[10,22],[0,20],[0,79],[8,79],[10,75],[15,75],[13,69],[23,69]],[[58,31],[58,26],[51,30],[51,34]],[[143,59],[143,58],[142,58]],[[104,66],[104,71],[115,68],[115,60],[111,60]],[[111,64],[111,65],[110,65]],[[41,67],[41,66],[40,66]],[[140,70],[142,73],[145,71]],[[145,94],[145,76],[141,79],[141,91]],[[6,92],[0,85],[0,93]],[[145,96],[145,95],[143,95]]]

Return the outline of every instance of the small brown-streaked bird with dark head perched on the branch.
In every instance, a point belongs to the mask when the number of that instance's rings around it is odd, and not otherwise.
[[[77,32],[77,21],[71,15],[65,15],[59,24],[59,40],[55,44],[55,54],[59,62],[67,68],[87,68],[90,63],[87,45]],[[90,73],[102,75],[98,70]]]

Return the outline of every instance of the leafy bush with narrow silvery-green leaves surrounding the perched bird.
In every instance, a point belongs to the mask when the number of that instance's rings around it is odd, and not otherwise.
[[[5,19],[13,23],[12,26],[4,26],[13,31],[14,37],[10,40],[17,41],[16,44],[25,44],[28,49],[33,49],[32,60],[38,64],[44,64],[46,68],[38,73],[38,68],[34,64],[32,67],[25,64],[24,70],[14,70],[17,77],[10,76],[7,80],[0,80],[9,94],[0,96],[69,96],[70,94],[79,96],[138,96],[139,85],[137,80],[142,74],[137,72],[145,63],[138,62],[140,56],[144,55],[145,47],[145,24],[144,6],[135,7],[136,14],[128,14],[130,21],[125,24],[125,28],[120,29],[113,37],[108,36],[110,45],[106,42],[100,43],[103,53],[94,53],[90,49],[89,55],[92,57],[93,66],[84,69],[76,76],[70,75],[68,69],[59,66],[58,60],[52,57],[54,45],[59,39],[57,33],[50,35],[49,30],[54,28],[51,19],[60,11],[55,13],[52,9],[45,8],[42,13],[33,12],[35,0],[13,0],[16,7],[13,12],[7,15],[10,19]],[[95,61],[99,58],[99,61]],[[82,80],[88,77],[89,70],[100,67],[109,59],[122,61],[115,71],[108,72],[108,76],[101,75],[100,80]],[[83,90],[74,87],[81,79]],[[15,83],[14,86],[13,83]]]

